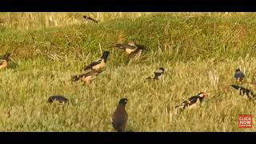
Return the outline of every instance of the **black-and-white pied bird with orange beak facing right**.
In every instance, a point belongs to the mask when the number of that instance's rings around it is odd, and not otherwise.
[[[206,98],[206,96],[209,96],[209,95],[210,95],[210,93],[201,92],[197,95],[194,95],[194,96],[188,98],[188,100],[182,102],[181,105],[175,106],[175,108],[182,107],[183,110],[186,107],[189,109],[194,108],[196,106],[199,106],[202,103],[202,100],[204,98]]]

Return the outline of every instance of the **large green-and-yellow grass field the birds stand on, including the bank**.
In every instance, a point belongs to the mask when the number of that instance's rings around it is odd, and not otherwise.
[[[13,61],[0,70],[0,130],[114,131],[111,114],[120,98],[128,98],[127,131],[255,131],[238,129],[239,114],[256,112],[254,102],[230,87],[238,67],[248,81],[255,77],[255,16],[170,13],[30,30],[4,27],[0,53],[11,51]],[[107,48],[133,40],[147,48],[135,62]],[[101,56],[99,45],[111,52],[106,71],[90,86],[71,83],[71,76]],[[161,81],[144,79],[160,66],[167,70]],[[211,94],[202,107],[174,110],[200,91]],[[70,105],[47,103],[54,94],[66,95]]]

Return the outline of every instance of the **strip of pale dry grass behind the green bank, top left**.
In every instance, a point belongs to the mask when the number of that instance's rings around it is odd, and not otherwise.
[[[103,22],[106,20],[113,20],[116,18],[138,18],[152,13],[128,13],[128,12],[116,12],[116,13],[102,13],[102,12],[86,12],[86,13],[28,13],[28,12],[10,12],[0,13],[0,26],[6,28],[16,28],[19,30],[30,30],[38,27],[51,27],[51,26],[68,26],[74,24],[88,23],[83,15],[90,16]]]

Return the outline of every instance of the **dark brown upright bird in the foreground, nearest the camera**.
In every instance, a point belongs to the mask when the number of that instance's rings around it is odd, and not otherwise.
[[[126,112],[127,102],[127,98],[121,98],[118,103],[117,109],[112,115],[112,125],[114,127],[114,130],[117,130],[118,132],[124,132],[126,129],[126,122],[128,119],[128,114]]]

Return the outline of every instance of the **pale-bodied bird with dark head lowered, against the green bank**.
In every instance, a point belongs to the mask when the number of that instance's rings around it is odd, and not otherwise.
[[[134,42],[118,43],[118,44],[115,44],[114,47],[121,50],[125,50],[127,54],[134,54],[138,50],[146,50],[145,46],[137,45]]]

